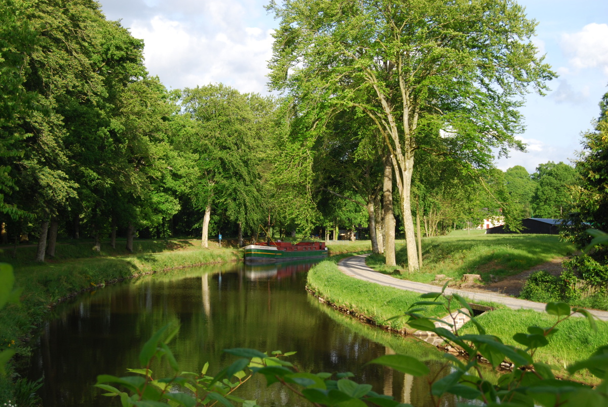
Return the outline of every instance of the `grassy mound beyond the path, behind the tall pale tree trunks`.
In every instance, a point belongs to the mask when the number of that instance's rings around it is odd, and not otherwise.
[[[480,274],[489,282],[490,274],[497,277],[512,276],[545,263],[555,257],[567,256],[575,248],[570,243],[560,242],[556,235],[485,235],[451,234],[424,238],[423,266],[416,273],[407,273],[407,252],[404,241],[396,243],[395,267],[384,265],[382,255],[371,255],[367,265],[382,273],[393,274],[403,279],[430,283],[435,274],[445,274],[455,282],[463,274]],[[474,232],[474,231],[471,231]]]

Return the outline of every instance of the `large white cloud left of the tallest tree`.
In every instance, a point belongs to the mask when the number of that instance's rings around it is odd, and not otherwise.
[[[241,92],[266,92],[272,30],[243,27],[239,31],[240,35],[229,29],[206,35],[164,16],[136,21],[131,27],[133,36],[145,41],[148,71],[172,88],[223,82]]]

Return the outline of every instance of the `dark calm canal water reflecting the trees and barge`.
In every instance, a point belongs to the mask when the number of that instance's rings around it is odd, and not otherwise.
[[[181,325],[170,343],[182,370],[198,371],[209,361],[214,374],[235,360],[222,353],[232,347],[297,353],[288,360],[302,371],[345,372],[374,390],[415,406],[430,406],[424,378],[363,364],[385,353],[429,360],[432,371],[447,373],[442,354],[416,340],[361,324],[304,290],[313,265],[242,263],[190,268],[130,280],[76,297],[54,310],[44,324],[32,356],[30,378],[44,377],[45,407],[119,406],[93,384],[99,374],[125,375],[140,367],[145,341],[167,322]],[[162,374],[162,366],[153,366]],[[261,406],[308,403],[263,377],[237,393]],[[449,399],[444,406],[455,406]]]

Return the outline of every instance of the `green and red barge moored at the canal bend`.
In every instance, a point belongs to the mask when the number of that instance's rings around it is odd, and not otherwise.
[[[246,262],[280,262],[326,256],[324,242],[270,242],[245,246]]]

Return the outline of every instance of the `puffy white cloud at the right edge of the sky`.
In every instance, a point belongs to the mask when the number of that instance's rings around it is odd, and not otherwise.
[[[561,47],[574,68],[599,68],[608,75],[608,24],[591,23],[562,34]]]

